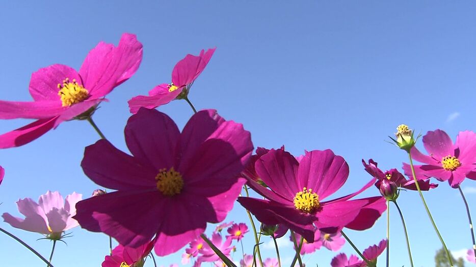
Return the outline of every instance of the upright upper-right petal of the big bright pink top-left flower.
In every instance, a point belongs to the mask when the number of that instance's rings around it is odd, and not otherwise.
[[[123,34],[119,45],[99,43],[80,69],[85,88],[94,99],[103,97],[129,79],[142,61],[142,44],[135,35]]]

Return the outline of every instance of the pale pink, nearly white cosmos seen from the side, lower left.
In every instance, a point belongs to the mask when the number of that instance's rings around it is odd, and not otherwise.
[[[25,219],[13,217],[9,213],[2,215],[4,221],[11,226],[30,232],[48,235],[48,238],[58,240],[63,231],[78,226],[72,217],[76,214],[76,202],[82,198],[81,194],[73,192],[66,196],[66,201],[59,192],[46,192],[36,203],[31,198],[18,200],[18,211]]]

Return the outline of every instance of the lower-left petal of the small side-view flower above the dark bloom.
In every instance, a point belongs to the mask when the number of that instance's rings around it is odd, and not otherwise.
[[[184,88],[178,88],[175,91],[169,92],[169,88],[167,88],[167,86],[167,83],[163,83],[161,85],[155,86],[149,92],[149,96],[137,96],[131,98],[129,101],[127,101],[127,103],[129,103],[130,113],[136,114],[141,107],[153,109],[158,106],[165,105],[174,100]]]

